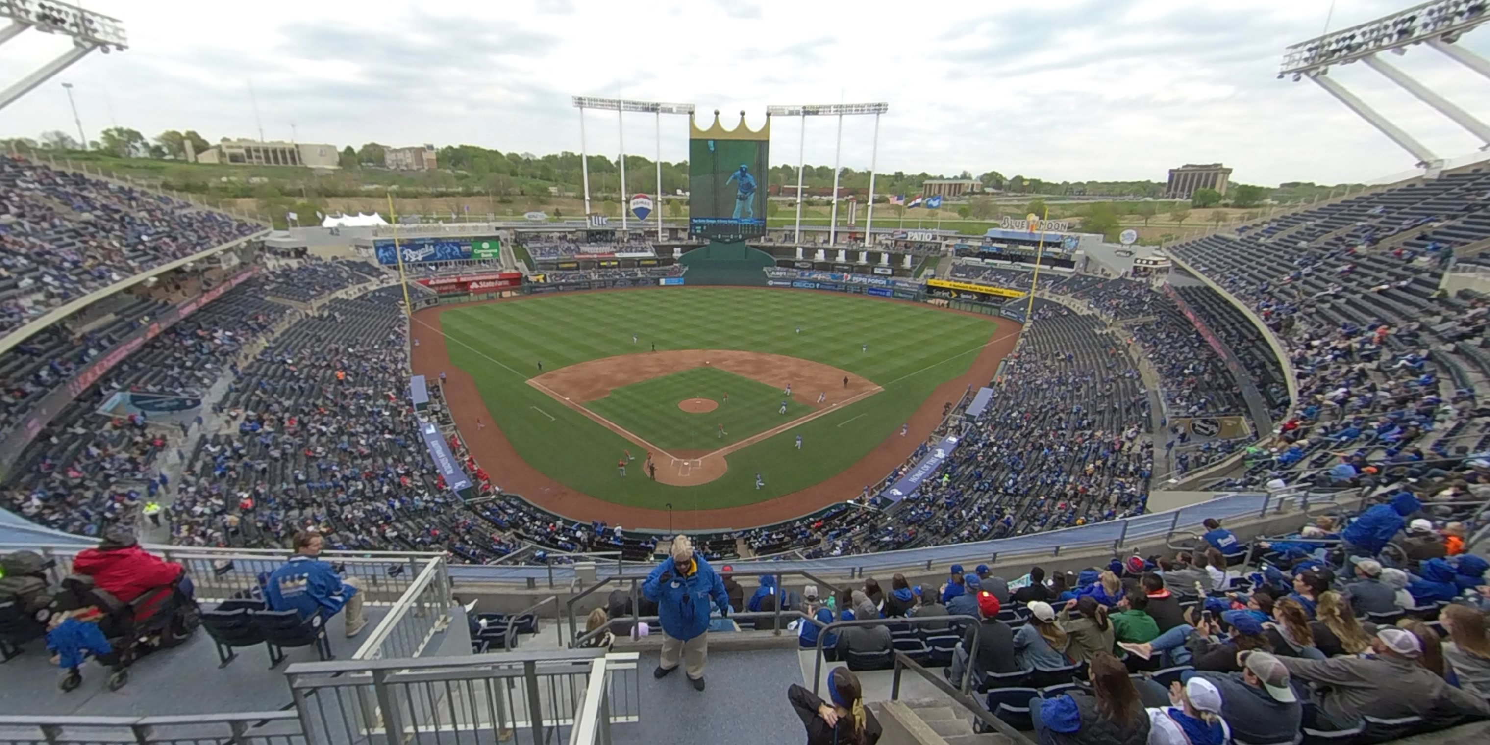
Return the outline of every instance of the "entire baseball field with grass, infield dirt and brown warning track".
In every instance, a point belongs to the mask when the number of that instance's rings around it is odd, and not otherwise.
[[[414,371],[447,374],[495,484],[612,523],[624,508],[760,507],[729,526],[782,519],[767,513],[791,507],[766,505],[787,495],[845,499],[882,478],[943,399],[988,383],[1016,334],[922,304],[745,288],[538,295],[429,308],[413,325]],[[592,514],[603,505],[590,498],[617,510]]]

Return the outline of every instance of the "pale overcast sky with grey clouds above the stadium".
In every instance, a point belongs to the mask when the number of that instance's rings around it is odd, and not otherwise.
[[[767,104],[888,101],[878,170],[1047,180],[1153,179],[1222,161],[1234,180],[1377,180],[1413,159],[1308,82],[1277,80],[1280,52],[1325,28],[1329,0],[85,0],[125,22],[130,49],[92,54],[0,113],[0,136],[112,124],[153,137],[194,128],[267,139],[580,149],[569,95],[693,103],[703,118]],[[1331,28],[1411,4],[1338,0]],[[0,85],[66,49],[28,31],[0,46]],[[1462,42],[1490,55],[1490,30]],[[1427,48],[1389,57],[1469,112],[1490,80]],[[1439,156],[1469,133],[1353,64],[1332,77]],[[708,122],[705,122],[708,124]],[[590,152],[618,150],[615,115],[586,119]],[[656,122],[629,115],[626,148],[653,156]],[[796,162],[799,121],[772,128]],[[845,119],[842,164],[869,168],[873,118]],[[681,116],[663,159],[687,158]],[[834,121],[814,119],[808,162],[833,162]]]

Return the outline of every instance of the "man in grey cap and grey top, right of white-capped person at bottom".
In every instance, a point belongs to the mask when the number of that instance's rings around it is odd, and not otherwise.
[[[1292,742],[1299,735],[1304,706],[1289,682],[1289,670],[1269,653],[1241,651],[1241,672],[1188,672],[1180,679],[1210,681],[1220,694],[1220,715],[1241,742]]]

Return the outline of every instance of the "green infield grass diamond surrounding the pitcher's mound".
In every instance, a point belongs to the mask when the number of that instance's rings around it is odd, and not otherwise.
[[[723,393],[730,395],[729,404],[721,401]],[[706,398],[720,408],[690,414],[676,407],[685,398]],[[781,413],[782,401],[787,401],[785,414]],[[812,407],[787,399],[775,386],[718,368],[684,370],[621,386],[586,408],[669,453],[718,450],[812,413]],[[724,425],[723,437],[720,425]]]

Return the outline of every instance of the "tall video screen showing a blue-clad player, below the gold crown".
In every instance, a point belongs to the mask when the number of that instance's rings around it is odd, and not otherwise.
[[[724,243],[766,234],[767,140],[688,140],[688,232]]]

